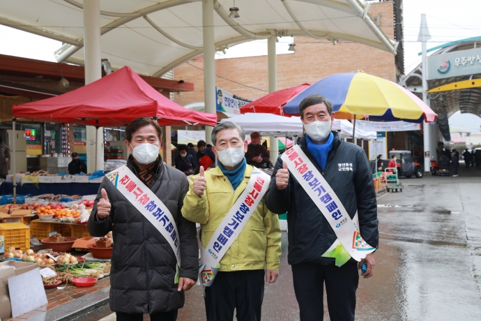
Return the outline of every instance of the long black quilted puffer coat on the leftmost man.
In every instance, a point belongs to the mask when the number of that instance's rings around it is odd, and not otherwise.
[[[130,160],[128,167],[136,172]],[[110,215],[97,220],[97,202],[105,188],[112,204]],[[195,223],[181,214],[189,188],[183,172],[160,165],[150,189],[167,206],[178,229],[181,242],[181,277],[197,280],[199,250]],[[174,284],[176,257],[160,232],[104,178],[89,218],[89,232],[102,237],[112,230],[114,251],[110,274],[110,308],[123,313],[156,313],[182,308],[183,291]]]

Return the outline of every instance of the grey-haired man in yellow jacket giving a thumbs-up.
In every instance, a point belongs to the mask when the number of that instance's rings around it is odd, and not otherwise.
[[[186,219],[201,224],[200,238],[204,248],[207,248],[212,237],[217,237],[215,230],[231,213],[234,203],[239,197],[244,197],[254,169],[247,165],[244,158],[247,142],[240,126],[231,121],[221,123],[213,128],[211,140],[218,166],[206,172],[201,167],[199,175],[190,179],[190,189],[182,208],[182,215]],[[268,181],[264,184],[268,184]],[[222,245],[230,246],[220,258],[217,275],[211,285],[205,288],[208,321],[232,320],[234,308],[238,321],[261,320],[264,275],[268,283],[274,283],[279,275],[279,218],[267,209],[264,197],[251,210],[252,216],[245,227],[236,230],[238,236],[235,241],[231,244],[216,242],[217,249]],[[240,214],[239,211],[237,213]],[[227,237],[232,235],[230,232],[224,234]],[[220,240],[224,239],[220,236]]]

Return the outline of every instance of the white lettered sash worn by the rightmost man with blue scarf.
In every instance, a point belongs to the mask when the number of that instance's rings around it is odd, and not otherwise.
[[[351,257],[359,262],[367,254],[376,250],[362,239],[358,228],[357,213],[353,221],[333,188],[307,158],[299,145],[288,149],[282,154],[281,159],[287,163],[289,172],[316,204],[336,234],[337,240],[322,256],[335,257],[335,264],[341,267]]]

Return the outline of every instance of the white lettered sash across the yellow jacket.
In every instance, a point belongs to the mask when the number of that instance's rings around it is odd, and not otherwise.
[[[202,285],[211,286],[220,269],[220,260],[241,234],[252,213],[257,209],[262,197],[269,188],[270,176],[254,167],[249,184],[227,212],[219,224],[206,248],[201,248],[201,267],[199,267]]]

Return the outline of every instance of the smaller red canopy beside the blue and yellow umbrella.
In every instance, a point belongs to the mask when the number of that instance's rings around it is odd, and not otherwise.
[[[284,109],[282,106],[286,105],[291,98],[299,94],[307,87],[310,87],[310,84],[301,84],[300,86],[274,91],[273,93],[267,94],[266,96],[263,96],[252,101],[252,103],[248,103],[247,105],[241,107],[241,114],[245,114],[247,112],[262,112],[266,114],[277,114],[291,117],[291,115],[284,114]]]

